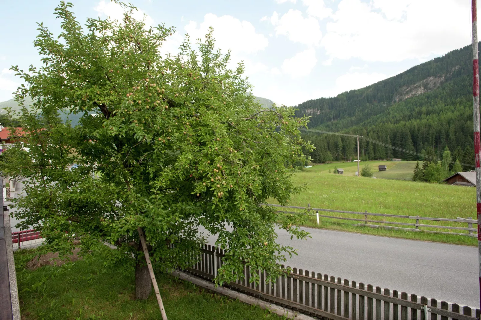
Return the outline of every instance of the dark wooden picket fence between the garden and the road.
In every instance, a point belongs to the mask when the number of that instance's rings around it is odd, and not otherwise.
[[[222,266],[225,252],[204,245],[201,257],[186,271],[204,279],[213,280]],[[284,265],[282,265],[284,268]],[[267,281],[266,272],[260,272],[259,283],[249,283],[251,271],[244,266],[243,277],[228,287],[253,295],[271,303],[332,320],[475,320],[480,319],[480,309],[460,307],[453,303],[424,296],[409,295],[397,290],[373,287],[335,278],[327,274],[292,268],[275,282]],[[247,275],[247,277],[246,277]]]

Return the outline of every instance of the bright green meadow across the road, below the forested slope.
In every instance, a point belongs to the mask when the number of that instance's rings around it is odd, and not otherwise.
[[[374,162],[369,161],[372,166],[377,163],[388,165],[388,171],[397,167],[403,162]],[[361,162],[361,167],[366,162]],[[344,174],[329,173],[329,170],[337,166],[344,169]],[[400,167],[399,172],[405,171],[404,166]],[[374,212],[397,215],[451,218],[457,217],[476,219],[476,189],[451,186],[443,184],[428,184],[421,182],[373,179],[365,177],[355,177],[356,163],[331,163],[327,165],[317,165],[306,168],[303,172],[298,172],[293,181],[296,185],[307,183],[307,190],[299,195],[294,195],[291,199],[292,206],[307,206],[311,208],[335,209],[358,212]],[[401,174],[401,173],[400,173]],[[274,202],[273,202],[274,203]],[[364,219],[363,215],[352,215],[332,212],[322,212],[321,214],[339,216],[346,218]],[[414,223],[414,220],[391,217],[369,217],[370,220],[394,221]],[[345,222],[351,224],[339,224]],[[361,232],[369,234],[389,235],[402,238],[438,241],[453,244],[476,246],[476,238],[446,234],[428,234],[418,232],[405,232],[394,230],[380,230],[368,227],[353,226],[352,221],[342,221],[337,219],[322,218],[321,227],[345,230],[350,232]],[[421,223],[423,223],[421,221]],[[424,222],[425,224],[438,224],[456,227],[467,227],[468,225],[456,222]],[[314,220],[307,225],[315,226]],[[382,225],[382,224],[380,224]],[[408,227],[397,225],[398,227]],[[421,230],[448,231],[445,229],[420,228]],[[467,231],[451,230],[456,233],[467,233]]]

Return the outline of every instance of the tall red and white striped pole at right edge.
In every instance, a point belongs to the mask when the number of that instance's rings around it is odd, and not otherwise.
[[[481,141],[480,141],[480,76],[478,63],[478,25],[476,0],[471,0],[471,23],[473,27],[473,126],[474,158],[476,161],[476,211],[478,213],[478,267],[480,276],[481,306]]]

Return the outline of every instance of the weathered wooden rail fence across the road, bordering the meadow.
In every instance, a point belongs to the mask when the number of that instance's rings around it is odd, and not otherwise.
[[[388,229],[398,229],[404,231],[423,231],[427,233],[433,234],[455,234],[455,235],[466,235],[471,237],[477,237],[478,234],[475,233],[478,231],[477,224],[478,221],[474,219],[465,219],[465,218],[457,218],[457,219],[448,219],[448,218],[431,218],[431,217],[419,217],[419,216],[405,216],[405,215],[398,215],[398,214],[384,214],[384,213],[372,213],[372,212],[358,212],[358,211],[343,211],[343,210],[333,210],[333,209],[320,209],[320,208],[311,208],[308,204],[306,207],[297,207],[297,206],[281,206],[277,204],[267,204],[270,207],[278,207],[278,208],[287,208],[287,209],[304,209],[308,210],[313,216],[316,215],[315,211],[327,211],[327,212],[335,212],[340,214],[353,214],[353,215],[362,215],[364,219],[358,218],[350,218],[350,217],[339,217],[339,216],[332,216],[332,215],[322,215],[318,214],[319,218],[329,218],[329,219],[338,219],[338,220],[348,220],[348,221],[358,221],[363,222],[354,225],[362,225],[368,227],[375,227],[375,228],[388,228]],[[300,212],[295,211],[285,211],[279,210],[279,213],[292,213],[292,214],[299,214]],[[376,216],[376,217],[392,217],[392,218],[401,218],[401,219],[411,219],[416,220],[415,223],[413,222],[395,222],[395,221],[384,221],[384,220],[372,220],[368,219],[368,216]],[[456,227],[451,225],[442,225],[442,224],[425,224],[419,223],[419,221],[437,221],[437,222],[459,222],[459,223],[467,223],[468,227]],[[369,223],[370,222],[370,223]],[[385,226],[380,224],[371,224],[371,223],[382,223],[382,224],[392,224],[392,225],[403,225],[403,226],[412,226],[414,228],[405,228],[405,227],[394,227],[394,226]],[[473,227],[473,224],[476,226]],[[468,233],[456,233],[456,232],[444,232],[444,231],[433,231],[433,230],[421,230],[419,228],[436,228],[436,229],[448,229],[448,230],[463,230],[468,231]]]

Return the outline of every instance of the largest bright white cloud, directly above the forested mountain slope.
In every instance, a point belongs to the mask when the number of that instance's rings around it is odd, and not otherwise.
[[[342,0],[321,45],[331,58],[422,61],[470,43],[469,11],[461,0]]]

